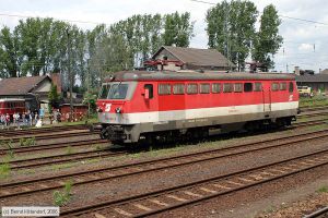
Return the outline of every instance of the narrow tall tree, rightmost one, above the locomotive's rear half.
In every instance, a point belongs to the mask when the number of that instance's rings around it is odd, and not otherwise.
[[[253,58],[262,63],[266,69],[274,66],[273,56],[282,45],[283,38],[279,35],[281,21],[274,5],[263,9],[260,17],[260,28],[254,40]]]

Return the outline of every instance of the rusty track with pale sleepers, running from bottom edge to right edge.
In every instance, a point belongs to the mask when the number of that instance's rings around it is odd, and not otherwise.
[[[60,216],[71,217],[84,214],[93,214],[95,217],[105,217],[108,214],[115,217],[151,216],[269,183],[326,165],[328,165],[328,149],[323,149],[247,170],[239,170],[120,199],[61,210]]]

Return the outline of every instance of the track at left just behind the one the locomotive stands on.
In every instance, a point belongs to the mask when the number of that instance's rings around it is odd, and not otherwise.
[[[14,154],[22,154],[22,153],[33,153],[33,152],[40,152],[40,150],[48,150],[48,149],[57,149],[57,148],[66,148],[68,146],[70,147],[79,147],[79,146],[85,146],[90,144],[105,144],[108,143],[107,140],[84,140],[84,141],[78,141],[78,142],[65,142],[65,143],[51,143],[51,144],[45,144],[45,145],[34,145],[31,147],[12,147],[9,148],[1,148],[0,155],[5,155],[9,152],[13,152]]]

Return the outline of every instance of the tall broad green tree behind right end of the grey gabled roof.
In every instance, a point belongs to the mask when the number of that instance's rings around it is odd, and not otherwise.
[[[249,55],[257,14],[256,5],[248,0],[223,1],[207,13],[209,47],[224,53],[238,70],[244,69]]]

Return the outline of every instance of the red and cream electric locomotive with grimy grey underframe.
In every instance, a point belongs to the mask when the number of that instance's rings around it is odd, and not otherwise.
[[[297,108],[295,76],[284,73],[118,72],[97,100],[101,136],[113,143],[284,126]]]

